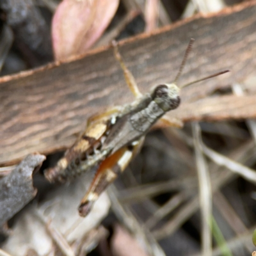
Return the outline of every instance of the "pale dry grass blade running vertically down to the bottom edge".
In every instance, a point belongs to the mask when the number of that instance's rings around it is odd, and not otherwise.
[[[211,236],[211,216],[212,216],[212,192],[211,179],[205,162],[202,150],[200,148],[200,126],[198,123],[192,124],[196,168],[199,182],[200,210],[202,218],[202,255],[212,254],[212,236]]]

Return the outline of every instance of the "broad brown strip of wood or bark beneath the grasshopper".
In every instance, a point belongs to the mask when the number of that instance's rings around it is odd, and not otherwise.
[[[184,88],[182,106],[169,115],[184,121],[253,118],[256,95],[218,97],[188,103],[221,86],[242,82],[256,70],[256,2],[182,20],[150,35],[125,40],[120,52],[141,91],[171,82],[190,38],[196,42],[179,84],[214,72],[232,72]],[[38,70],[0,78],[0,164],[30,152],[69,147],[86,118],[107,106],[130,102],[113,49],[105,47]]]

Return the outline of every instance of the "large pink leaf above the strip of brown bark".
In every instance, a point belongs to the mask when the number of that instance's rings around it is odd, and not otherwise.
[[[52,20],[56,60],[82,54],[108,27],[119,0],[63,0]]]

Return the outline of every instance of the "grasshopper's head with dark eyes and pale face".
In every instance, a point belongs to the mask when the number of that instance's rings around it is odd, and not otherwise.
[[[164,112],[178,108],[180,88],[176,84],[160,84],[152,91],[151,97]]]

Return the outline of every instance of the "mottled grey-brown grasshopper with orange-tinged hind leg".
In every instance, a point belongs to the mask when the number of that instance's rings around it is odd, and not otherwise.
[[[81,216],[86,216],[90,212],[100,193],[125,170],[140,150],[145,134],[158,120],[163,120],[169,126],[182,126],[179,120],[163,117],[167,111],[179,106],[181,88],[229,71],[225,70],[178,87],[175,83],[182,73],[193,42],[193,39],[189,42],[174,83],[157,85],[145,95],[140,93],[134,77],[120,56],[116,42],[113,42],[115,58],[119,61],[125,81],[136,100],[89,118],[81,137],[67,150],[54,168],[44,172],[50,182],[65,182],[97,166],[90,188],[79,205]]]

